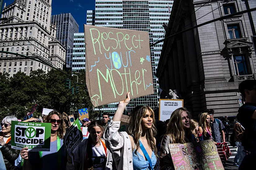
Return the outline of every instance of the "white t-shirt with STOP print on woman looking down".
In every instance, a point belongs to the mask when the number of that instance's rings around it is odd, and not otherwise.
[[[101,142],[100,142],[101,143]],[[92,145],[92,161],[94,170],[104,170],[106,165],[106,153],[101,143],[100,146]]]

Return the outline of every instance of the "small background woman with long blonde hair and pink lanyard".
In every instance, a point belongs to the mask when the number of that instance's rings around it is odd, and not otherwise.
[[[209,113],[202,113],[200,116],[198,131],[203,135],[204,140],[212,139]]]

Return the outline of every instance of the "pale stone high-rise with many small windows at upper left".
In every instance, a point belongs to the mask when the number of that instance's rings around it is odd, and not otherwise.
[[[52,0],[14,0],[2,10],[0,50],[23,54],[54,67],[65,65],[66,49],[56,40],[56,26],[51,23]],[[0,53],[0,72],[13,76],[32,70],[46,73],[51,67],[15,54]]]

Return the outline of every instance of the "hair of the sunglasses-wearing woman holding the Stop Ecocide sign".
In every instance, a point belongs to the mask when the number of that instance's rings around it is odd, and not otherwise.
[[[64,134],[65,134],[65,132],[66,132],[66,125],[65,125],[64,118],[63,118],[63,116],[61,115],[61,113],[56,112],[56,111],[50,112],[50,113],[46,116],[44,122],[45,122],[45,123],[50,123],[51,117],[52,117],[52,115],[54,115],[54,114],[56,114],[56,115],[60,118],[60,120],[61,120],[61,123],[60,123],[60,125],[59,125],[58,130],[57,130],[57,135],[59,136],[59,138],[63,139],[63,138],[64,138]]]

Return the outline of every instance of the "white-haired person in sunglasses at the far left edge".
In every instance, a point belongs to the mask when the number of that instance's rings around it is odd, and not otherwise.
[[[14,161],[19,157],[20,153],[19,150],[11,148],[11,121],[18,121],[18,119],[15,116],[7,116],[1,122],[0,150],[7,170],[16,169]]]

